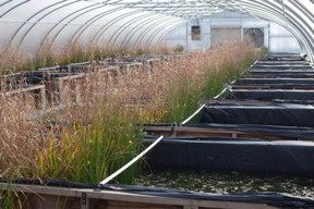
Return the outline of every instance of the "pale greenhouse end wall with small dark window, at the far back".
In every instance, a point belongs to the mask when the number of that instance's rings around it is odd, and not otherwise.
[[[201,40],[193,40],[191,29],[193,25],[201,26]],[[217,39],[243,40],[245,32],[252,28],[263,32],[263,46],[267,47],[270,52],[301,52],[300,45],[293,35],[280,25],[234,12],[224,12],[210,19],[182,24],[167,34],[165,44],[171,47],[182,46],[186,51],[206,50],[215,46]]]

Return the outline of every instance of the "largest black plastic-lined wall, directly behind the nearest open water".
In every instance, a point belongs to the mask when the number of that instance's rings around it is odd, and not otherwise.
[[[150,144],[155,139],[147,139]],[[149,152],[157,170],[240,171],[314,174],[314,143],[250,138],[165,138]]]

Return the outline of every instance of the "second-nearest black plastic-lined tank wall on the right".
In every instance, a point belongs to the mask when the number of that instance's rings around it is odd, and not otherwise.
[[[264,124],[314,127],[314,108],[305,104],[206,106],[201,123]]]

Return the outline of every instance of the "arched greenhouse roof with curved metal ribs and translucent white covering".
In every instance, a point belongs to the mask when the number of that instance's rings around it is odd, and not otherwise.
[[[224,10],[232,10],[283,26],[297,38],[302,51],[314,62],[312,0],[50,0],[47,2],[48,0],[7,0],[0,4],[2,25],[12,22],[12,19],[7,17],[12,12],[24,12],[31,3],[36,3],[38,7],[38,11],[25,20],[19,20],[16,15],[16,20],[13,21],[22,24],[12,33],[10,44],[15,41],[17,46],[23,45],[27,36],[36,36],[37,24],[45,24],[44,20],[48,16],[60,15],[56,17],[59,21],[50,23],[52,26],[45,30],[44,37],[36,37],[40,39],[40,45],[48,38],[51,38],[53,44],[63,36],[68,36],[69,41],[80,41],[89,29],[96,29],[90,37],[92,44],[95,45],[106,37],[107,44],[110,45],[153,47],[161,42],[166,34],[179,24],[193,19],[208,17]],[[73,10],[76,4],[80,7]],[[71,8],[71,11],[67,13],[64,8]],[[71,25],[77,25],[76,21],[82,16],[86,19],[80,22],[73,32],[67,33],[65,29],[71,28]]]

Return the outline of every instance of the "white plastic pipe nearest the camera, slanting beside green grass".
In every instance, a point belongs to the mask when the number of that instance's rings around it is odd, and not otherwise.
[[[153,149],[159,142],[161,142],[164,139],[164,136],[161,135],[157,140],[155,140],[149,147],[147,147],[144,151],[142,151],[138,156],[136,156],[135,158],[133,158],[133,160],[131,160],[130,162],[128,162],[126,164],[124,164],[121,169],[119,169],[118,171],[116,171],[114,173],[112,173],[111,175],[109,175],[108,177],[106,177],[104,181],[101,181],[98,185],[102,186],[105,184],[107,184],[108,182],[110,182],[111,180],[113,180],[114,177],[117,177],[120,173],[122,173],[123,171],[125,171],[129,167],[131,167],[132,164],[134,164],[140,158],[142,158],[143,156],[145,156],[150,149]]]

